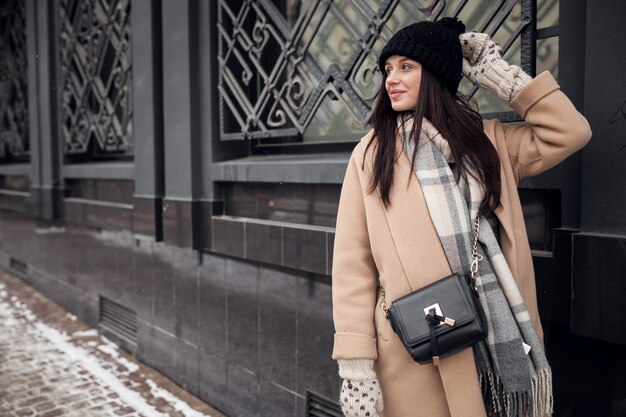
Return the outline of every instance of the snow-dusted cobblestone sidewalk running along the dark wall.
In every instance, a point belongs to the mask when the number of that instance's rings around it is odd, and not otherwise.
[[[224,417],[0,269],[0,417]]]

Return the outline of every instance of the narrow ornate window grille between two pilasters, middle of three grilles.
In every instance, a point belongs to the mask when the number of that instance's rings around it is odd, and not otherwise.
[[[65,154],[132,154],[130,0],[60,0]]]

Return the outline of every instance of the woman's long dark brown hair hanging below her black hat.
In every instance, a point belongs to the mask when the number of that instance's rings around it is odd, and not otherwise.
[[[374,167],[370,192],[378,190],[385,207],[391,205],[389,191],[393,185],[394,164],[401,152],[396,150],[398,134],[398,114],[391,107],[391,100],[385,89],[386,74],[378,93],[372,114],[374,136],[365,149],[374,144]],[[479,214],[484,215],[500,206],[501,179],[500,159],[493,144],[483,132],[482,117],[473,110],[467,99],[454,95],[449,89],[422,68],[422,81],[417,107],[413,114],[413,130],[410,139],[417,141],[425,117],[448,140],[456,163],[456,180],[471,175],[483,185],[485,196],[480,204]],[[411,156],[413,163],[417,146]],[[412,166],[413,164],[411,164]],[[412,176],[412,174],[411,174]],[[410,180],[409,177],[408,180]]]

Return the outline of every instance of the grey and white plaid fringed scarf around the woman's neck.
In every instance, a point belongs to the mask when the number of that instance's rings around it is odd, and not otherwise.
[[[398,130],[409,158],[415,149],[412,128],[412,118],[399,117]],[[452,272],[469,276],[472,219],[484,190],[472,175],[462,176],[457,183],[450,162],[447,140],[424,119],[413,169]],[[492,219],[496,219],[493,213]],[[474,358],[488,415],[551,415],[550,366],[494,228],[485,217],[480,219],[479,242],[484,260],[479,263],[476,284],[489,336],[474,346]]]

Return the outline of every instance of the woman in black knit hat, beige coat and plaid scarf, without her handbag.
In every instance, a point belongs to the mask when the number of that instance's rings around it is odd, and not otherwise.
[[[333,359],[346,416],[551,414],[517,184],[582,148],[591,132],[552,75],[532,79],[487,35],[463,32],[451,18],[415,23],[379,58],[374,128],[350,159],[335,235]],[[526,124],[483,121],[457,95],[462,73]],[[419,365],[381,304],[453,272],[469,274],[476,217],[489,337],[439,366]]]

